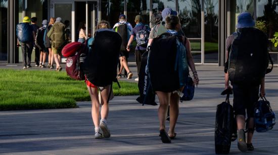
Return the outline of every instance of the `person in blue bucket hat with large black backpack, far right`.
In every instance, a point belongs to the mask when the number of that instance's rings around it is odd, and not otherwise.
[[[254,46],[261,46],[265,47],[267,50],[267,37],[263,32],[261,32],[258,29],[254,28],[255,21],[252,19],[252,16],[250,13],[241,13],[238,16],[238,24],[237,24],[237,32],[233,33],[232,35],[228,36],[226,39],[226,62],[225,62],[225,90],[230,90],[231,86],[229,85],[229,72],[231,61],[229,62],[229,55],[232,52],[235,52],[235,50],[231,50],[231,48],[236,48],[237,46],[233,46],[233,42],[235,38],[237,38],[240,41],[244,40],[250,40],[251,42],[256,43],[256,38],[259,39],[260,45],[254,45]],[[248,33],[246,33],[248,32]],[[252,34],[251,34],[252,33]],[[252,37],[252,35],[255,35],[257,37]],[[240,36],[240,37],[239,37]],[[251,36],[251,37],[250,37]],[[258,38],[259,37],[259,38]],[[258,41],[257,41],[258,42]],[[249,46],[249,45],[240,45],[242,46]],[[245,47],[244,52],[248,52],[248,50],[251,47]],[[242,50],[239,50],[239,52],[242,52]],[[264,51],[259,51],[264,52]],[[267,52],[267,51],[266,51]],[[247,57],[246,55],[245,57]],[[250,55],[252,57],[252,53]],[[231,59],[232,57],[230,57]],[[238,59],[239,60],[239,59]],[[244,60],[243,58],[243,61]],[[261,59],[263,61],[263,59]],[[257,63],[257,62],[256,62]],[[259,63],[259,62],[258,62]],[[239,63],[238,63],[239,64]],[[240,64],[241,67],[250,68],[251,66],[246,66],[245,63]],[[247,64],[250,65],[250,64]],[[237,68],[236,68],[237,69]],[[231,85],[233,86],[233,93],[234,93],[234,111],[235,116],[237,120],[237,126],[238,126],[238,148],[242,152],[245,152],[247,150],[254,150],[254,146],[252,144],[252,137],[254,133],[254,104],[256,101],[258,101],[258,94],[260,92],[261,97],[265,96],[265,90],[264,90],[264,77],[262,77],[260,83],[250,86],[245,86],[244,84],[236,83],[235,81],[231,80]],[[246,114],[247,114],[247,121],[246,121]],[[246,128],[247,128],[247,139],[245,138],[245,122],[246,122]]]

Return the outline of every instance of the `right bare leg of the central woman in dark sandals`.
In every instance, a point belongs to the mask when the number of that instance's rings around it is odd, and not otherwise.
[[[168,133],[170,137],[173,137],[175,135],[175,125],[179,113],[179,96],[177,95],[177,93],[171,93],[170,98],[170,128]]]

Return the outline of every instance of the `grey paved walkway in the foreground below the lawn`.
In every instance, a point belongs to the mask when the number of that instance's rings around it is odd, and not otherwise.
[[[200,85],[192,101],[179,104],[177,138],[170,144],[158,136],[158,106],[142,106],[135,101],[137,96],[125,96],[110,102],[107,139],[94,139],[89,102],[79,102],[75,109],[1,111],[0,154],[214,154],[216,106],[225,99],[220,95],[223,68],[200,65],[197,70]],[[277,73],[274,67],[265,86],[276,114]],[[255,132],[253,144],[255,150],[248,154],[278,154],[277,125]],[[237,142],[232,142],[230,154],[241,154]]]

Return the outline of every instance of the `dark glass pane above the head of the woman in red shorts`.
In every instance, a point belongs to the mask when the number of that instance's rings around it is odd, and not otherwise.
[[[101,19],[111,27],[119,21],[120,14],[124,14],[124,0],[101,0]]]

